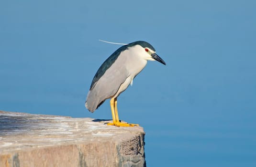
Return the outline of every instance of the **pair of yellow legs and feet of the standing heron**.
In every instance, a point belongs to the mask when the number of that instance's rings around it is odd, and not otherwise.
[[[108,123],[107,125],[115,125],[115,126],[126,126],[126,127],[132,127],[132,126],[139,126],[138,124],[128,124],[120,122],[118,111],[117,111],[117,98],[111,98],[110,100],[110,106],[111,106],[111,112],[113,117],[113,123]]]

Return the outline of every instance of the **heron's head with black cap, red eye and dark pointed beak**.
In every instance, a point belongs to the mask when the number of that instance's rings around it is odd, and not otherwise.
[[[142,57],[145,60],[157,61],[166,65],[165,61],[156,54],[156,50],[148,42],[145,42],[145,41],[132,42],[132,43],[129,43],[127,47],[129,47],[129,50],[132,50],[134,53],[137,53],[140,57]]]

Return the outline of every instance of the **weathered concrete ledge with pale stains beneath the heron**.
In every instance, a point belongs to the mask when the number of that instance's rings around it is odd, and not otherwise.
[[[145,167],[142,127],[0,111],[0,167]]]

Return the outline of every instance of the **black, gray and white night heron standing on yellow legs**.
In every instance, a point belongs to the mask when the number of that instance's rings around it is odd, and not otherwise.
[[[93,113],[105,100],[110,100],[112,123],[107,125],[132,127],[138,124],[121,122],[117,110],[117,97],[133,84],[134,78],[140,73],[147,61],[165,61],[156,54],[155,48],[145,41],[125,44],[113,52],[104,61],[94,75],[85,106]]]

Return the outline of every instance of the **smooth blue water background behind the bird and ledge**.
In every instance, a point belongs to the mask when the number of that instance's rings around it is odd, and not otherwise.
[[[119,116],[144,127],[149,167],[256,166],[255,0],[0,1],[0,109],[111,119],[84,101],[119,45],[151,43],[119,96]]]

